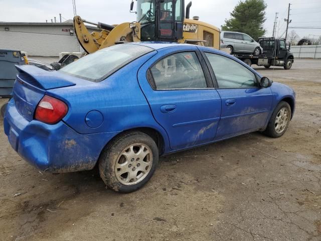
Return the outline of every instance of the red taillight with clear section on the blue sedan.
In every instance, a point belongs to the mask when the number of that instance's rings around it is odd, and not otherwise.
[[[63,101],[45,95],[36,108],[35,119],[47,124],[55,124],[59,122],[67,112],[68,107]]]

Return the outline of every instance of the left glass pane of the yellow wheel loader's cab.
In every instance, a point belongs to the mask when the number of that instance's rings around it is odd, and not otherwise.
[[[137,22],[145,24],[155,21],[155,0],[137,0]]]

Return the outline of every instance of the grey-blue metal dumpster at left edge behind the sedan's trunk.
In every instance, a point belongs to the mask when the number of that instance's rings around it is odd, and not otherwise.
[[[19,50],[0,49],[0,98],[11,98],[18,70],[15,65],[26,64]]]

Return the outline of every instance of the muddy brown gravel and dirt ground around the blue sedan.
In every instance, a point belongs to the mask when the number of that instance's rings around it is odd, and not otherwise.
[[[321,60],[256,69],[297,93],[286,134],[163,157],[134,193],[105,189],[96,169],[40,173],[2,134],[0,240],[321,240]]]

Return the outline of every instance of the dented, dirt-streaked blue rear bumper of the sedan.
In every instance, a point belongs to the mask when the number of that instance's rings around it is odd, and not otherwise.
[[[81,135],[64,122],[29,122],[18,112],[14,99],[8,103],[4,129],[11,146],[25,161],[53,173],[92,169],[104,146],[117,135]]]

